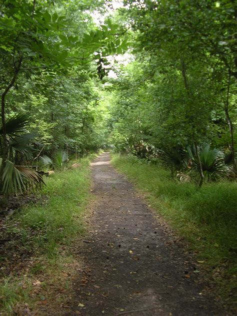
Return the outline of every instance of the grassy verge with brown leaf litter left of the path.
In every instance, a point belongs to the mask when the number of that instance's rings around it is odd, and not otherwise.
[[[4,222],[9,241],[0,257],[1,314],[48,313],[52,300],[60,307],[78,262],[73,239],[84,230],[82,215],[89,199],[90,155],[79,167],[46,178],[42,203],[31,204]],[[67,293],[68,295],[68,293]],[[43,307],[45,306],[45,307]],[[50,313],[50,312],[49,312]]]

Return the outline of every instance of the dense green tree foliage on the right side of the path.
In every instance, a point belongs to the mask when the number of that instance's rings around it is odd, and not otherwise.
[[[112,142],[142,158],[210,143],[236,172],[236,3],[128,1],[134,60],[113,83]],[[201,170],[200,170],[201,171]]]

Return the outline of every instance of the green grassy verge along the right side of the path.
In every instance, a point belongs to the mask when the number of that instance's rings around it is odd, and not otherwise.
[[[237,184],[180,184],[161,166],[114,155],[112,164],[125,173],[157,212],[195,251],[218,292],[237,308]]]

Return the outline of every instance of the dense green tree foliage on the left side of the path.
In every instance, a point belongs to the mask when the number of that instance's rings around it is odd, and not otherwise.
[[[91,12],[97,7],[105,8],[89,1],[6,0],[0,5],[1,189],[7,159],[31,165],[41,153],[64,149],[83,156],[103,144],[96,78],[108,74],[106,56],[122,53],[127,39],[119,36],[123,27],[109,18],[95,25]],[[27,116],[23,132],[31,141],[27,149],[21,146],[20,158],[7,133],[15,115]],[[32,133],[36,139],[29,139]]]

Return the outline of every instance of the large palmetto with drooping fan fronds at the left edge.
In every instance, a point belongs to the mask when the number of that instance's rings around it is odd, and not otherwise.
[[[5,124],[6,136],[8,142],[7,160],[4,163],[2,174],[2,193],[5,195],[11,193],[25,193],[37,189],[44,182],[41,175],[29,168],[14,164],[15,152],[26,154],[30,149],[30,143],[36,134],[23,134],[25,126],[28,123],[28,115],[16,115],[9,119]],[[2,129],[0,129],[2,134]],[[0,167],[2,158],[0,158]]]

